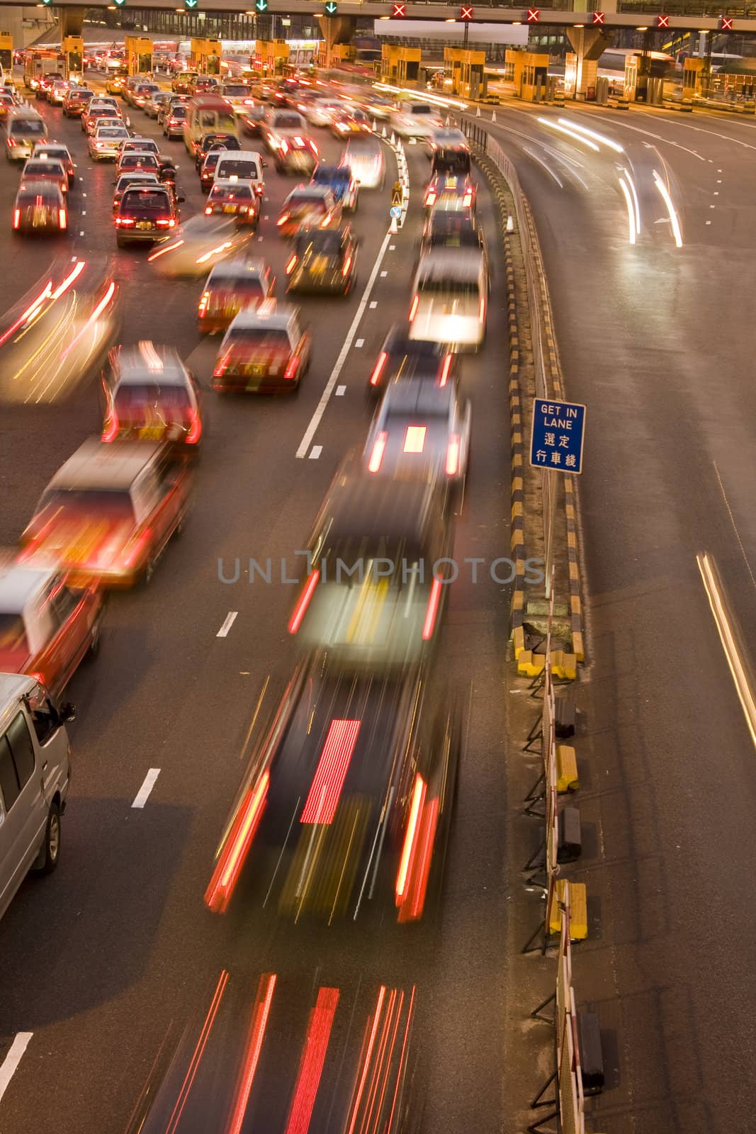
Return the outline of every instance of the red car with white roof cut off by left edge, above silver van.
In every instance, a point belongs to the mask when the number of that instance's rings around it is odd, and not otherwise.
[[[54,567],[0,562],[0,670],[29,674],[60,696],[102,625],[97,586],[71,587]]]

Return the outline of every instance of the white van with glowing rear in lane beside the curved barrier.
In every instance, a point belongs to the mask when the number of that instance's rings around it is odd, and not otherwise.
[[[409,338],[478,350],[485,339],[489,274],[475,248],[426,252],[415,274]]]

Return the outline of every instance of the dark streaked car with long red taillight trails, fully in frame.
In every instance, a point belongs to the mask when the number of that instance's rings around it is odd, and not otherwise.
[[[461,733],[458,700],[419,674],[355,677],[317,654],[297,667],[241,779],[206,905],[224,913],[238,892],[296,921],[421,921],[439,897]]]

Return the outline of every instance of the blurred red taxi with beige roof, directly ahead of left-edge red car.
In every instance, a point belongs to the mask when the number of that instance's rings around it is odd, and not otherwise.
[[[42,493],[19,559],[52,559],[73,586],[148,582],[184,523],[190,484],[188,463],[169,445],[90,438]]]

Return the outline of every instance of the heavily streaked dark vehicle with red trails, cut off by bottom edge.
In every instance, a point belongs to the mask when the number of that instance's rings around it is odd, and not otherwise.
[[[238,874],[232,860],[230,873]],[[223,970],[153,1067],[127,1134],[165,1134],[177,1114],[178,1134],[416,1131],[427,1034],[419,993],[389,975],[343,988],[340,980],[323,970],[297,978]],[[218,1115],[229,1116],[222,1127],[213,1126]]]

